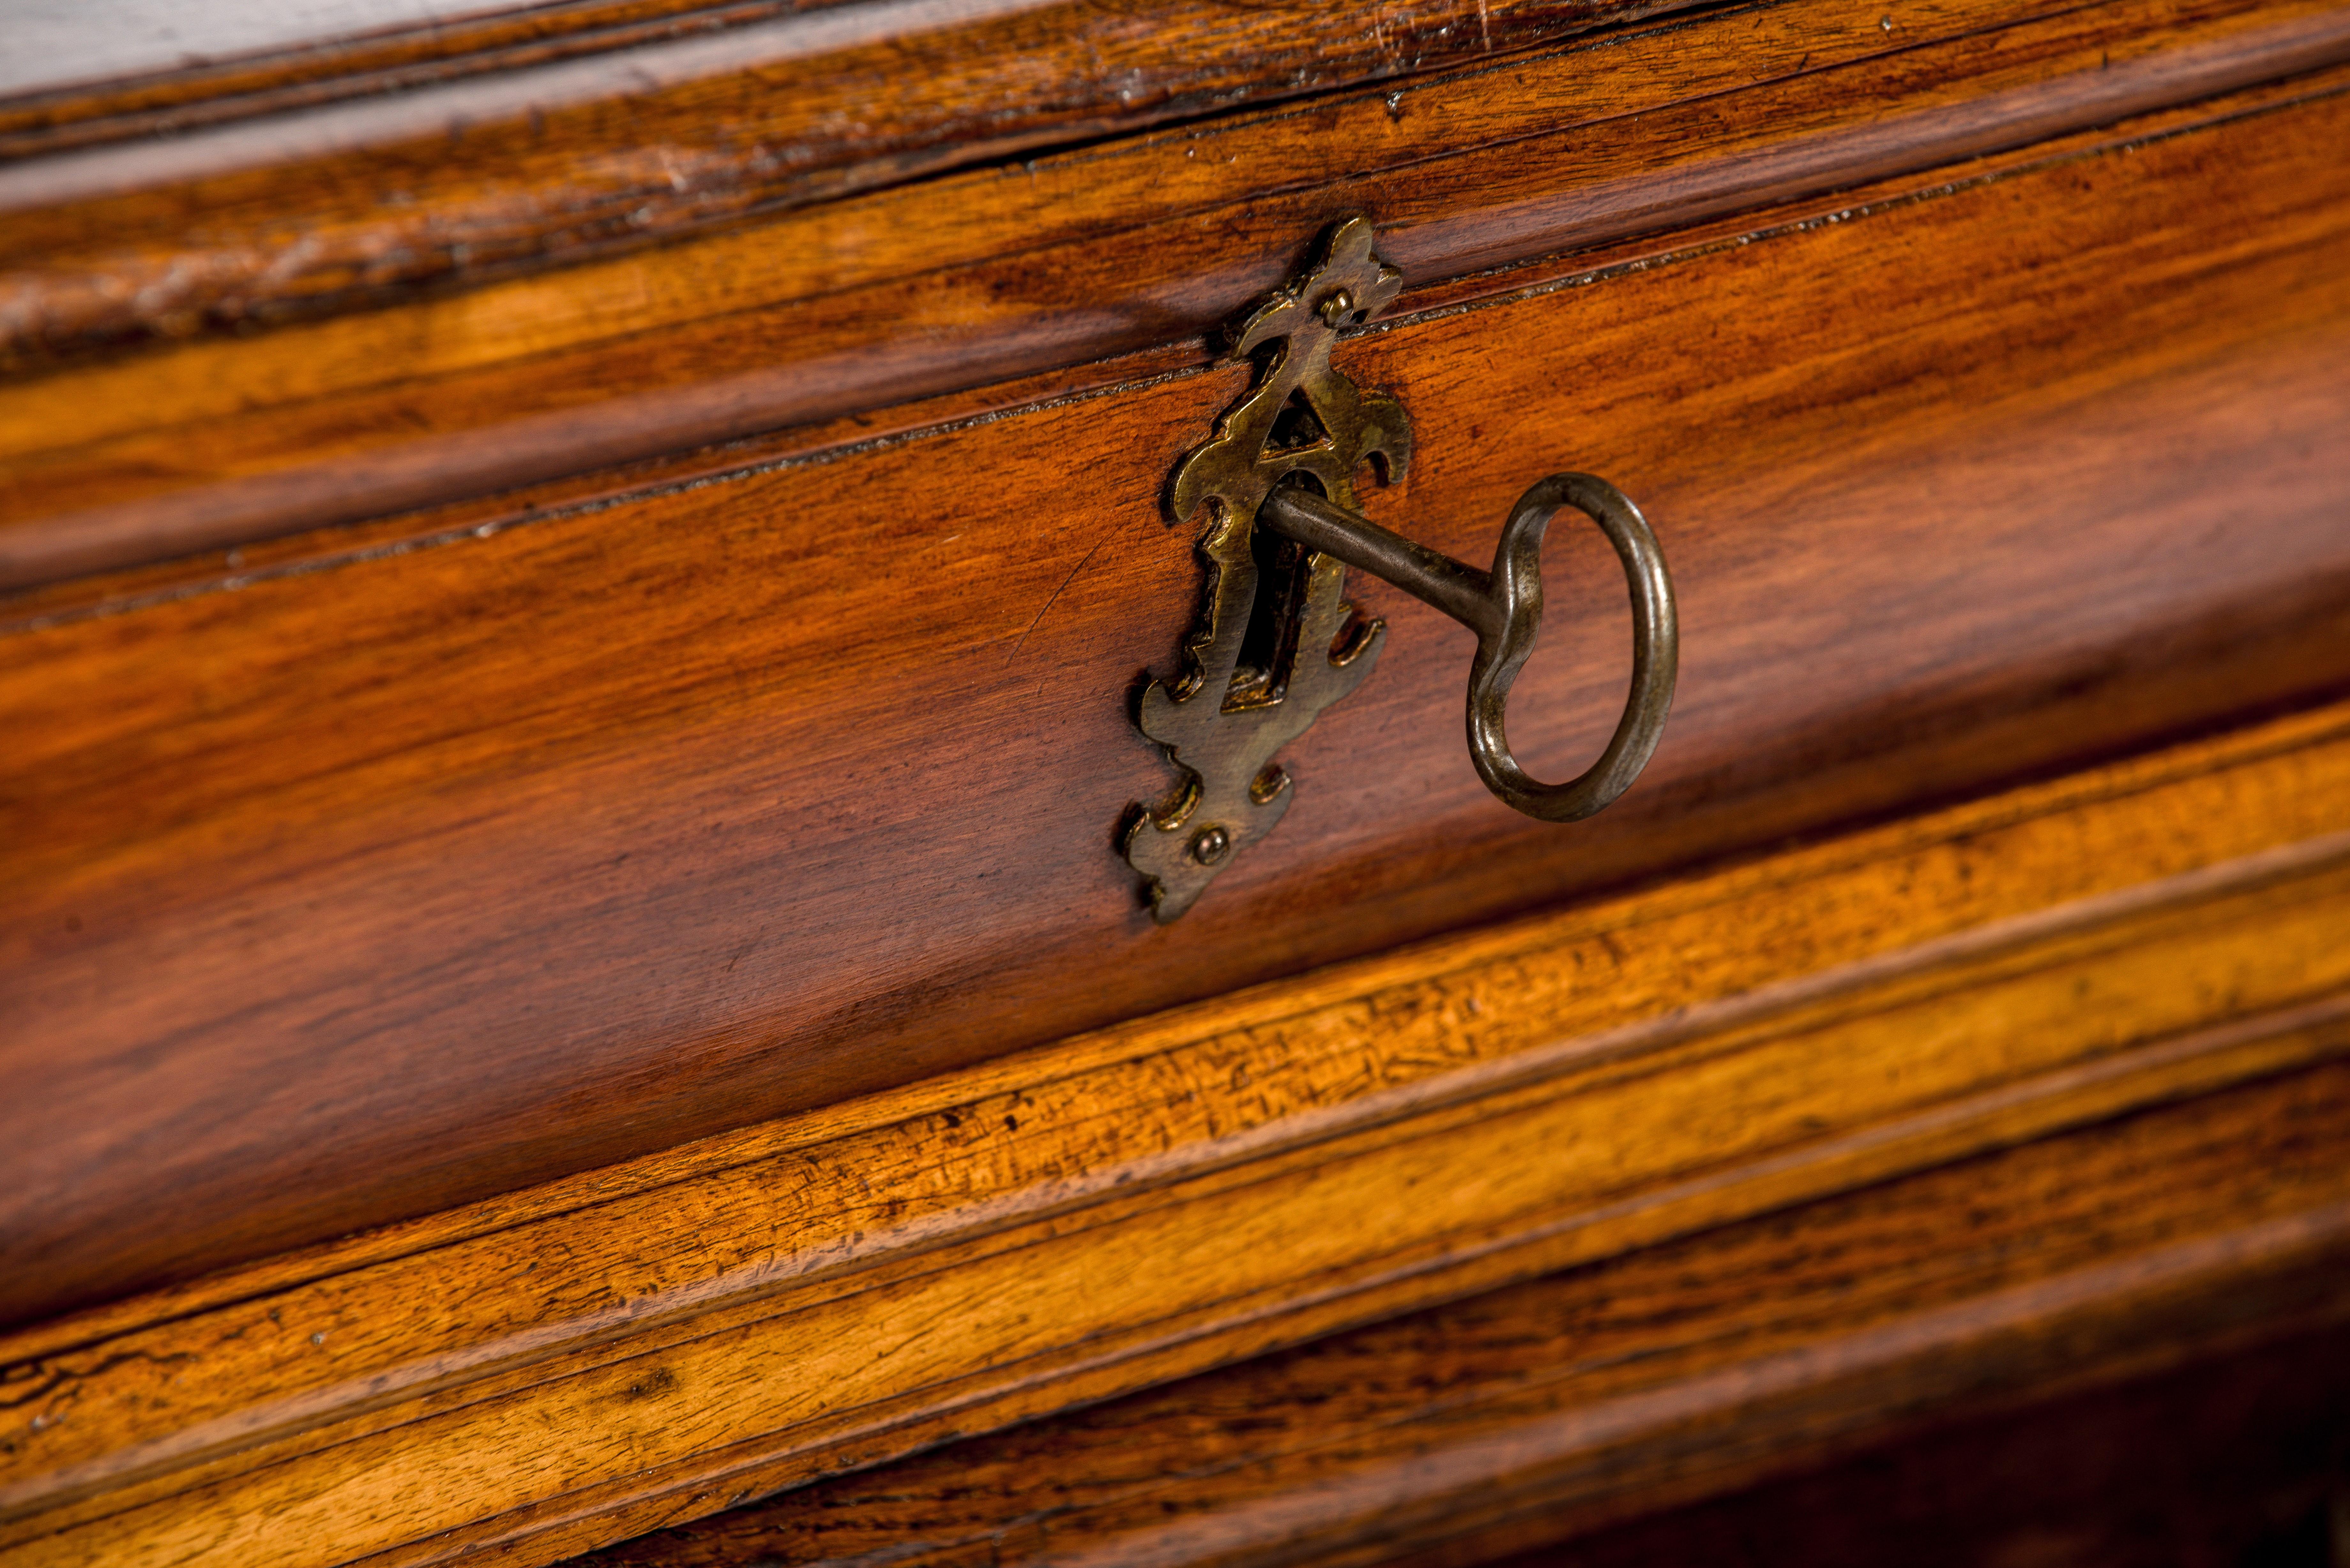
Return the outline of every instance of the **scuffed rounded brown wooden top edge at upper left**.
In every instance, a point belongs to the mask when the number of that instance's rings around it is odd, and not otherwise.
[[[0,169],[7,348],[223,329],[536,270],[1041,143],[1490,59],[1659,7],[644,9],[656,26],[562,45],[501,47],[512,24],[491,21],[475,31],[479,49],[376,63],[400,56],[378,47],[341,80],[230,73],[230,94],[181,101],[160,125],[153,87],[132,89],[115,118],[52,110],[75,122],[19,129]],[[49,146],[59,153],[42,158]]]

